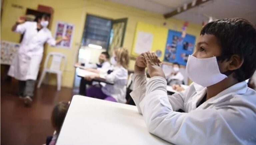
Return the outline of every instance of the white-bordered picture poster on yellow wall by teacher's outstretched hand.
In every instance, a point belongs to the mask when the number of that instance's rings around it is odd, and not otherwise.
[[[74,28],[75,27],[73,24],[69,24],[69,23],[65,23],[65,22],[57,22],[55,39],[58,40],[64,36],[66,36],[70,39],[67,41],[61,41],[59,44],[56,45],[56,47],[61,47],[61,48],[70,48],[71,47]]]

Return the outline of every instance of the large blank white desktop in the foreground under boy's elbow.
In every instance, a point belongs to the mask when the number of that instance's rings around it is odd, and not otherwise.
[[[167,145],[147,131],[136,106],[75,95],[56,145]]]

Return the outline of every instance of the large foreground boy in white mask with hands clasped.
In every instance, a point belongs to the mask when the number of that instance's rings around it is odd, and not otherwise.
[[[168,96],[157,56],[147,52],[136,60],[131,96],[149,132],[173,144],[256,144],[256,91],[245,82],[256,70],[255,58],[252,23],[214,20],[188,58],[189,88]]]

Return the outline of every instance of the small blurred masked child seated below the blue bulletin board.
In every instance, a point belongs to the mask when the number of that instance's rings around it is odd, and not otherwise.
[[[167,85],[181,85],[183,84],[184,76],[180,73],[180,65],[178,63],[173,63],[173,71],[166,76]]]

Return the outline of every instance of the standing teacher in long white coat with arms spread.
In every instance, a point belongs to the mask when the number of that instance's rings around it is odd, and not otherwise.
[[[25,16],[22,16],[12,27],[12,31],[24,35],[8,75],[19,80],[19,97],[24,99],[26,105],[32,103],[45,42],[55,46],[62,40],[69,39],[63,37],[60,40],[55,40],[47,28],[49,19],[48,15],[43,14],[38,16],[34,22],[25,22]]]

